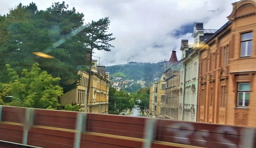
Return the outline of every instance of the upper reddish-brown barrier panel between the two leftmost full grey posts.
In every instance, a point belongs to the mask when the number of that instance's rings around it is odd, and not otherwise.
[[[34,125],[76,129],[77,112],[35,109]]]

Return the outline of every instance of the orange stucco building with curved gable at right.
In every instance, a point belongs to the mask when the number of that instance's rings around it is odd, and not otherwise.
[[[198,48],[197,121],[256,127],[256,3],[232,5],[229,21]]]

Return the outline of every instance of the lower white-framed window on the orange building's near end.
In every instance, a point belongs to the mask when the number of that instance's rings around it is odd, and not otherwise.
[[[250,83],[238,83],[237,106],[249,106]]]

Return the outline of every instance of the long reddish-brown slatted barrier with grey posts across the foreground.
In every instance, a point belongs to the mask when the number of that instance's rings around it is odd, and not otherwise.
[[[0,106],[0,147],[255,148],[256,128]]]

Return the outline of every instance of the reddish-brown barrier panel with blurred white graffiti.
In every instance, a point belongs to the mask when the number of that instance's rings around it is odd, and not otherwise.
[[[158,119],[155,140],[209,148],[236,148],[241,144],[240,126]]]

